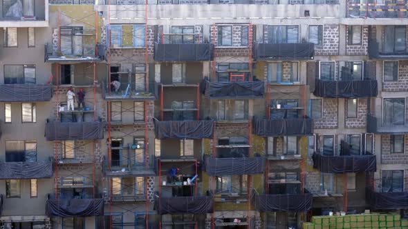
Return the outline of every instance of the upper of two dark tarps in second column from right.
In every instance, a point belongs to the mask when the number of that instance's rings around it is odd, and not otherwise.
[[[376,80],[326,81],[316,79],[315,92],[323,98],[365,98],[376,97],[378,84]]]

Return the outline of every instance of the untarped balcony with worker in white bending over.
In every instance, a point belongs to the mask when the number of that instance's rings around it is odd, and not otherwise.
[[[129,73],[130,74],[130,73]],[[136,73],[136,76],[138,74]],[[129,77],[129,79],[131,79]],[[137,79],[137,78],[133,78]],[[145,79],[140,79],[142,82],[136,83],[133,80],[127,82],[119,82],[118,88],[109,84],[102,84],[102,96],[105,100],[130,100],[130,101],[154,101],[157,99],[157,83],[149,82],[149,90],[146,90]]]

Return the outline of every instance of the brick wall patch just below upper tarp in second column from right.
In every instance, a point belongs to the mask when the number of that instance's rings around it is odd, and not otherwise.
[[[322,119],[314,119],[315,129],[333,129],[337,128],[337,99],[323,99]]]

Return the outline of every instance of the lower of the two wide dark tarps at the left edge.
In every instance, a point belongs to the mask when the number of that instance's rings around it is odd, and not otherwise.
[[[41,179],[50,177],[53,177],[52,161],[0,163],[0,179]]]

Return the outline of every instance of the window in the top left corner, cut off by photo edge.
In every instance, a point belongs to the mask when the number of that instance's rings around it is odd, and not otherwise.
[[[34,0],[4,0],[3,17],[34,17]]]

